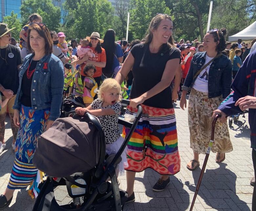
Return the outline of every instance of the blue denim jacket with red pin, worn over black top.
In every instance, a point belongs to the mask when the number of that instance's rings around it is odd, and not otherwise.
[[[29,67],[34,54],[25,57],[19,72],[19,88],[13,109],[21,107],[21,82],[23,74]],[[56,120],[60,116],[60,106],[64,85],[63,63],[53,54],[45,55],[39,60],[33,74],[31,85],[31,104],[35,110],[51,108],[49,120]]]

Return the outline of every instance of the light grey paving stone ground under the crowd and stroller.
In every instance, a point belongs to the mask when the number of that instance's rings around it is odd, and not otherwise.
[[[179,104],[179,102],[177,102]],[[162,192],[152,191],[152,186],[157,182],[159,175],[151,169],[136,174],[134,203],[127,203],[125,211],[168,211],[189,210],[194,196],[196,184],[201,168],[189,171],[186,163],[193,159],[193,152],[189,145],[189,130],[187,109],[185,111],[175,106],[179,151],[181,156],[181,171],[171,176],[171,182]],[[229,128],[233,151],[226,154],[223,163],[215,163],[216,154],[210,153],[203,176],[203,181],[198,193],[194,210],[251,210],[253,187],[250,180],[254,175],[248,115],[240,116],[237,123]],[[0,155],[0,194],[5,190],[14,161],[11,150],[12,133],[10,118],[6,120],[5,140],[7,150]],[[200,167],[203,165],[204,155],[200,156]],[[122,189],[126,189],[125,176],[119,177]],[[71,202],[65,186],[55,190],[55,198],[60,204]],[[15,202],[16,201],[16,202]],[[13,200],[6,211],[31,211],[34,203],[26,190],[16,190]]]

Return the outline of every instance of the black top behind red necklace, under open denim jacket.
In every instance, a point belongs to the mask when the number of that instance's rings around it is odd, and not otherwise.
[[[34,61],[34,60],[31,61],[29,71],[32,71],[33,69],[35,69],[37,62],[39,62],[39,61]],[[20,101],[23,106],[32,107],[32,105],[31,105],[31,85],[32,85],[32,79],[33,79],[34,73],[31,75],[30,79],[28,79],[27,73],[28,73],[28,69],[24,72],[23,77],[22,77],[22,81],[21,81],[22,96],[21,96]]]

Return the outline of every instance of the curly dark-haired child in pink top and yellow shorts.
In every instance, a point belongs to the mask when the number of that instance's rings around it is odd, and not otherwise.
[[[83,101],[85,107],[88,107],[93,102],[93,98],[96,95],[96,91],[98,90],[98,85],[93,78],[94,73],[96,72],[96,67],[92,64],[87,64],[84,67],[84,74],[86,77],[84,78],[84,93],[83,93]]]

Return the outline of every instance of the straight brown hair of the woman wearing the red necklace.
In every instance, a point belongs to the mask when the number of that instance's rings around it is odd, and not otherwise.
[[[30,32],[31,30],[34,29],[36,32],[44,38],[45,40],[45,54],[50,55],[53,52],[53,40],[50,34],[50,31],[47,29],[46,26],[39,26],[37,24],[31,24],[29,25],[29,30],[28,30],[28,50],[33,52],[33,49],[30,46]]]

